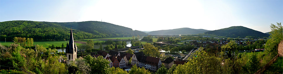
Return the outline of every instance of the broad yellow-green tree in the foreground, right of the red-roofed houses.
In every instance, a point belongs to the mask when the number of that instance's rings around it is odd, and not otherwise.
[[[188,62],[184,65],[178,65],[174,74],[213,74],[221,73],[220,58],[210,57],[203,48],[199,48]]]

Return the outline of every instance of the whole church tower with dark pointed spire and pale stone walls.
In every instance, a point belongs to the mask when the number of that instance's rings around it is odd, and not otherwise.
[[[76,43],[74,42],[72,28],[70,33],[69,44],[67,43],[66,46],[66,53],[67,53],[68,61],[75,60],[77,58],[77,46]]]

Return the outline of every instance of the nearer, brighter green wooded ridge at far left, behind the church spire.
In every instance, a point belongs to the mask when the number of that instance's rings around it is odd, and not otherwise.
[[[1,40],[11,41],[13,37],[33,38],[34,40],[68,40],[70,28],[50,22],[4,21],[1,22]],[[98,38],[98,35],[73,29],[75,39]]]

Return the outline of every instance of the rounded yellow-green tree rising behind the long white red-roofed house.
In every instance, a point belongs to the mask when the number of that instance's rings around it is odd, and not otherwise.
[[[158,48],[154,47],[153,45],[146,43],[144,45],[144,50],[143,52],[145,53],[146,56],[151,56],[151,57],[159,57],[160,52],[158,51]]]

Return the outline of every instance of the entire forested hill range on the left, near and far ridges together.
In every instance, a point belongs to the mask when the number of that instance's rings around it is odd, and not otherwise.
[[[72,26],[75,39],[122,37],[123,35],[147,35],[138,30],[99,21],[84,22],[39,22],[4,21],[0,22],[1,40],[11,41],[13,37],[33,38],[34,40],[69,40]]]

